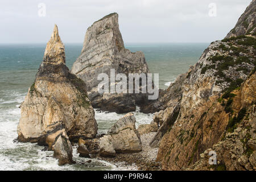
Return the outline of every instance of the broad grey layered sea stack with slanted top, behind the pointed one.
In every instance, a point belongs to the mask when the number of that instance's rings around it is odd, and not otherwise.
[[[136,105],[146,105],[148,100],[145,94],[98,93],[97,86],[101,80],[97,80],[97,77],[100,73],[106,73],[110,78],[110,69],[114,69],[115,74],[124,73],[126,76],[128,73],[149,72],[144,54],[125,48],[117,13],[105,16],[88,28],[81,55],[71,72],[86,82],[93,107],[127,113],[135,111]]]

